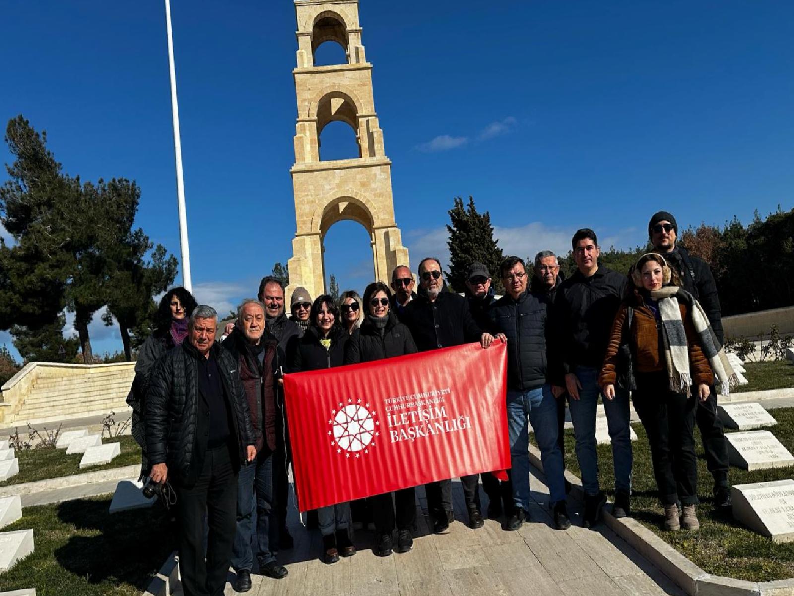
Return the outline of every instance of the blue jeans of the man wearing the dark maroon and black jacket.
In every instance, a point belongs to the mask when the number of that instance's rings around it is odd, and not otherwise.
[[[255,460],[240,467],[237,476],[237,535],[232,555],[236,571],[251,571],[252,543],[260,565],[276,560],[272,548],[278,544],[279,524],[273,509],[273,455],[256,455]]]

